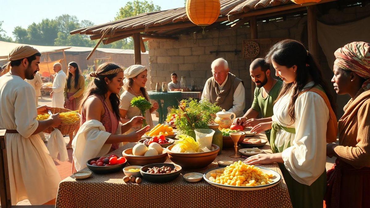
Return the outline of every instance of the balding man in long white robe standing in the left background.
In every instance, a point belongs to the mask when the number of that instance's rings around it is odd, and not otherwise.
[[[60,63],[55,63],[53,70],[57,73],[54,77],[53,91],[50,93],[51,97],[51,107],[64,108],[64,85],[67,75],[65,75],[62,70],[62,65]]]

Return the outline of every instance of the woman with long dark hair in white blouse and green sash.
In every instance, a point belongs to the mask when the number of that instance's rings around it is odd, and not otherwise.
[[[298,41],[276,43],[266,61],[272,63],[284,84],[273,107],[272,122],[258,124],[251,131],[272,128],[274,153],[252,156],[245,163],[278,162],[293,207],[323,207],[326,131],[329,112],[334,109],[329,88],[311,54]],[[322,96],[329,100],[329,106]]]

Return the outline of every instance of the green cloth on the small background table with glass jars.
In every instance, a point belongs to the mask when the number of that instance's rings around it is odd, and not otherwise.
[[[149,98],[156,100],[159,104],[158,114],[159,120],[158,123],[161,124],[166,120],[168,114],[167,107],[177,107],[181,98],[181,92],[171,91],[167,93],[156,93],[155,91],[148,91]]]

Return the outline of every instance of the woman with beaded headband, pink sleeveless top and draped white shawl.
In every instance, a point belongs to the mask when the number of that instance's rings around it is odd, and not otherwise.
[[[101,64],[89,74],[93,80],[85,90],[80,105],[81,127],[72,141],[73,171],[86,167],[91,158],[116,150],[121,142],[137,142],[149,130],[149,125],[130,134],[122,135],[131,127],[142,125],[143,117],[131,118],[120,123],[120,99],[118,94],[123,86],[123,70],[114,63]]]

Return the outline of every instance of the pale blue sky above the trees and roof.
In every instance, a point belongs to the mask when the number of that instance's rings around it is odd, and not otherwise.
[[[95,24],[114,20],[120,7],[130,0],[0,0],[0,21],[7,36],[16,26],[27,26],[42,19],[54,19],[61,14],[77,16],[78,20],[90,20]],[[148,0],[150,2],[150,0]],[[184,0],[152,0],[162,10],[184,7]]]

